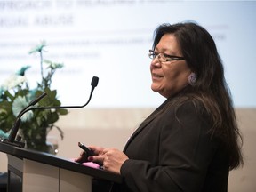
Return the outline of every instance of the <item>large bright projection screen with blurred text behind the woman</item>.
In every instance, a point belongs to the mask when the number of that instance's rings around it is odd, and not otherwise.
[[[63,105],[83,104],[99,76],[91,108],[155,108],[164,98],[150,89],[155,28],[196,21],[217,44],[236,108],[256,107],[256,2],[151,0],[0,1],[0,84],[23,66],[40,79],[39,55],[64,63],[53,87]]]

